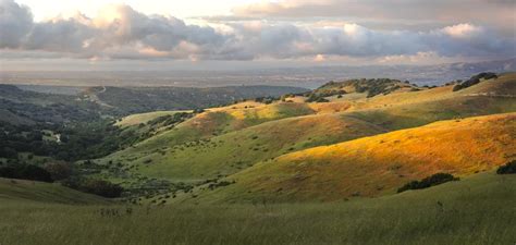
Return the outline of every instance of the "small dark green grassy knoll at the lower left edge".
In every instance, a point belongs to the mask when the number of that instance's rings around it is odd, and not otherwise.
[[[54,204],[109,204],[105,198],[81,193],[59,184],[0,177],[0,206],[37,201]]]

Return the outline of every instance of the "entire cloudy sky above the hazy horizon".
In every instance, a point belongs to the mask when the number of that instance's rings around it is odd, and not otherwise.
[[[516,56],[514,0],[0,0],[2,70],[431,64]]]

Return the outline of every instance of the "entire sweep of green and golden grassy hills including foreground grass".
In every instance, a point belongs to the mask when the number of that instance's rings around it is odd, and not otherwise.
[[[455,85],[125,117],[138,140],[74,162],[124,196],[0,179],[0,244],[511,244],[516,179],[493,170],[516,159],[516,74]],[[460,181],[396,194],[438,172]]]

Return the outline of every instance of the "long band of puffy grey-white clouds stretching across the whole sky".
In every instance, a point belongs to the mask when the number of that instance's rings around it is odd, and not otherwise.
[[[42,51],[52,57],[94,60],[308,59],[323,62],[330,57],[403,61],[516,54],[514,38],[472,23],[419,32],[378,30],[352,22],[187,24],[173,16],[147,15],[124,4],[108,5],[94,17],[76,13],[34,22],[30,11],[12,0],[0,0],[0,49],[17,50],[21,56],[26,56],[22,54],[25,51]]]

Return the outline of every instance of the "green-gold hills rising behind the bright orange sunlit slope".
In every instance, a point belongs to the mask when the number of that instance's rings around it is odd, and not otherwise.
[[[515,81],[516,75],[508,74],[456,93],[447,86],[329,103],[214,108],[102,162],[121,162],[134,173],[172,181],[212,179],[292,150],[439,120],[516,111],[516,98],[497,96],[516,94]],[[481,94],[486,91],[490,94]],[[311,113],[317,114],[299,117]]]

